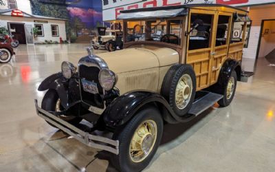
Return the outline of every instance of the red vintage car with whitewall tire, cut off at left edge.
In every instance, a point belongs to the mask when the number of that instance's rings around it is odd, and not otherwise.
[[[0,43],[0,63],[8,63],[15,54],[13,48],[8,43]]]

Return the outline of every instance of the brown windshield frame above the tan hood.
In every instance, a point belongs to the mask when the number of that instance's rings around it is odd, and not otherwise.
[[[159,42],[159,41],[126,41],[127,36],[127,22],[129,21],[153,21],[153,20],[181,20],[181,41],[180,44],[173,44],[173,43],[165,43],[165,42]],[[164,47],[170,47],[178,52],[181,51],[184,41],[186,40],[186,37],[184,36],[184,32],[186,30],[186,17],[170,17],[170,18],[154,18],[154,19],[127,19],[123,20],[123,43],[124,47],[131,47],[133,45],[155,45],[155,46],[164,46]]]

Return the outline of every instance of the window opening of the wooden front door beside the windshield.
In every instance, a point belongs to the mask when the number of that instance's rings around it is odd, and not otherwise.
[[[210,47],[213,17],[212,14],[191,14],[189,50]]]

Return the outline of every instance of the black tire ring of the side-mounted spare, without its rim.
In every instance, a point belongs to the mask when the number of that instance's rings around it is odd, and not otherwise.
[[[190,99],[188,104],[184,107],[184,109],[179,109],[179,107],[177,107],[176,105],[175,92],[176,92],[176,87],[177,87],[177,83],[179,82],[179,79],[181,78],[181,76],[184,76],[185,74],[190,76],[192,80],[192,89],[190,90],[192,92],[190,94]],[[186,65],[186,64],[179,64],[179,65],[173,65],[172,67],[170,67],[166,76],[164,77],[161,92],[162,92],[162,96],[166,98],[170,107],[173,109],[175,114],[177,114],[177,116],[186,115],[192,107],[192,103],[195,99],[195,94],[196,94],[196,75],[194,70],[192,69],[192,66]]]

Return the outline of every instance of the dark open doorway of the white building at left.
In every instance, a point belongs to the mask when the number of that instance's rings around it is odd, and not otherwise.
[[[17,39],[20,44],[26,44],[25,25],[24,23],[9,23],[10,34]]]

